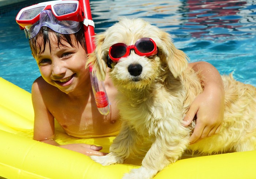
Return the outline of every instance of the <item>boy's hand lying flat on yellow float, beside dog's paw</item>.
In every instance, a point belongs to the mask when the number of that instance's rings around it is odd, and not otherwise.
[[[102,147],[89,145],[89,144],[66,144],[66,145],[61,145],[59,147],[76,151],[87,156],[91,156],[91,155],[102,156],[107,154],[105,152],[99,152],[100,150],[102,150]]]

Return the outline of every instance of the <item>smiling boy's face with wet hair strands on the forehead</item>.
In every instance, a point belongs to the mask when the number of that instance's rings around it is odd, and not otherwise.
[[[81,44],[72,40],[75,47],[64,40],[61,41],[63,45],[58,47],[57,37],[49,32],[51,47],[46,44],[45,51],[34,56],[44,80],[66,94],[84,84],[88,78],[88,70],[85,69],[86,52]],[[39,49],[37,51],[40,52]]]

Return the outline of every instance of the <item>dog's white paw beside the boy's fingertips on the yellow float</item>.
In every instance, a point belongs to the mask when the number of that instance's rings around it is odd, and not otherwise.
[[[108,155],[105,156],[90,156],[91,159],[93,159],[95,162],[102,164],[103,166],[116,164],[116,163],[123,163],[123,159],[120,157],[114,155],[112,152],[110,152]]]

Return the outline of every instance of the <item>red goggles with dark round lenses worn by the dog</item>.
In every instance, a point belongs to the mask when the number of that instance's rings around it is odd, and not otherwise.
[[[131,49],[139,56],[153,56],[157,54],[157,44],[150,38],[142,38],[135,42],[134,45],[126,45],[124,43],[116,43],[109,48],[109,58],[117,62],[123,57],[127,57],[131,53]]]

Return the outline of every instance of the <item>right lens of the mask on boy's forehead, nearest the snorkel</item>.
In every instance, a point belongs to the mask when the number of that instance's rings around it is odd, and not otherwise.
[[[76,3],[67,3],[67,4],[56,4],[53,6],[54,12],[56,15],[61,16],[75,12],[77,9]]]

